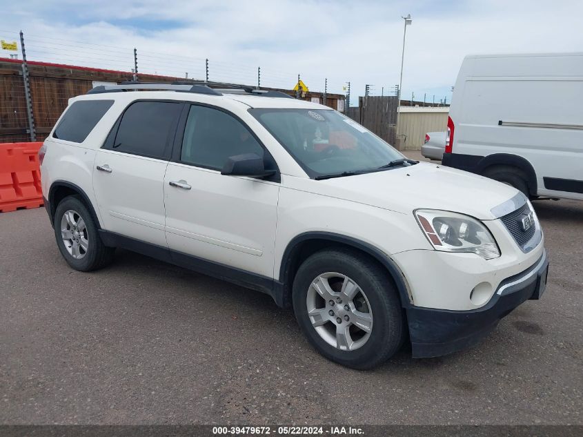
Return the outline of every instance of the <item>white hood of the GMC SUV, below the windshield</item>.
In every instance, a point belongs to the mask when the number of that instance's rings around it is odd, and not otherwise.
[[[294,179],[290,188],[399,213],[410,214],[419,208],[441,209],[480,220],[499,217],[500,214],[493,213],[492,209],[519,193],[493,179],[426,162],[364,175],[322,180]]]

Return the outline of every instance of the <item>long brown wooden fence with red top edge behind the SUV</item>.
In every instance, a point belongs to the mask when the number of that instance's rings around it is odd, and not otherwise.
[[[43,141],[52,130],[71,97],[85,94],[100,83],[119,84],[132,80],[132,72],[101,70],[48,64],[29,61],[30,94],[32,95],[32,115],[37,141]],[[181,77],[139,74],[139,81],[163,82],[185,81]],[[295,97],[293,90],[278,90]],[[323,93],[301,93],[301,99],[324,103]],[[344,95],[327,94],[326,106],[337,109]],[[342,105],[343,106],[343,105]],[[27,115],[26,94],[22,79],[22,61],[17,59],[0,60],[0,142],[30,141]]]

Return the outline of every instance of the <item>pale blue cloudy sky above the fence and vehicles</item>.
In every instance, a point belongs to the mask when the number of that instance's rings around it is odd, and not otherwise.
[[[292,88],[353,97],[399,82],[402,15],[407,29],[403,98],[451,99],[465,55],[577,51],[582,1],[143,0],[19,1],[3,6],[0,38],[22,29],[30,59]],[[0,50],[0,57],[8,57]],[[357,99],[353,99],[353,104]]]

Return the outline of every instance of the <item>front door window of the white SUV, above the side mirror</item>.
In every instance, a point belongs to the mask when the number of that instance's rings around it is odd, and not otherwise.
[[[244,153],[264,157],[264,148],[239,120],[206,106],[190,107],[181,162],[220,170],[228,157]]]

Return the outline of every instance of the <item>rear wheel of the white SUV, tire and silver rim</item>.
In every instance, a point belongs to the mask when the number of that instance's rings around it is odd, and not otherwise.
[[[94,218],[79,197],[68,196],[59,202],[54,223],[59,251],[73,269],[97,270],[113,260],[115,248],[103,244]]]

